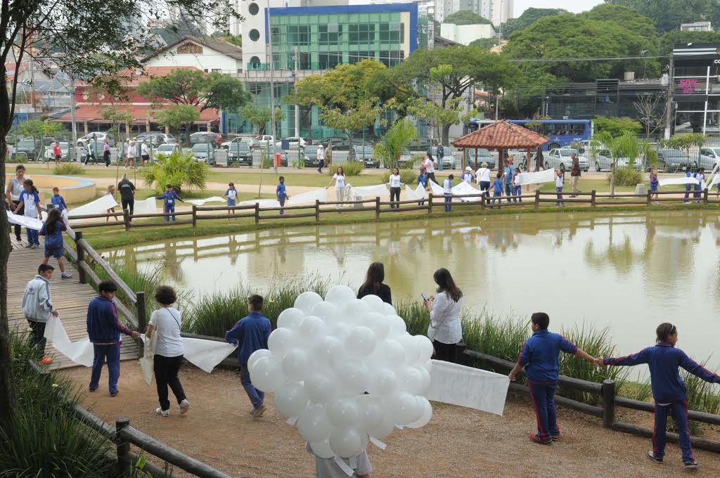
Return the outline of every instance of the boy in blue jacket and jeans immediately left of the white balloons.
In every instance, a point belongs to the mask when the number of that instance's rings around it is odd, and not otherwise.
[[[255,351],[268,348],[271,325],[270,320],[260,313],[263,310],[263,302],[262,296],[251,295],[248,299],[248,312],[250,313],[247,317],[238,320],[238,323],[225,333],[226,341],[238,344],[240,382],[253,404],[251,412],[253,419],[260,418],[265,412],[265,405],[263,405],[265,394],[253,386],[250,381],[250,371],[248,371],[248,358]]]

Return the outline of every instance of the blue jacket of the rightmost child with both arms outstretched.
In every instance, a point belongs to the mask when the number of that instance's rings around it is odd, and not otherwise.
[[[657,403],[675,402],[688,397],[678,367],[683,367],[690,374],[699,376],[706,382],[720,384],[720,376],[701,366],[685,355],[685,352],[667,342],[659,342],[626,357],[605,358],[604,361],[608,365],[647,364],[650,369],[652,396]]]

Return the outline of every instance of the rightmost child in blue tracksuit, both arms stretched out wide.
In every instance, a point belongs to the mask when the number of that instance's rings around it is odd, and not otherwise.
[[[696,468],[698,462],[693,456],[688,431],[688,392],[680,378],[678,367],[700,377],[706,382],[720,384],[720,376],[698,364],[685,352],[675,348],[678,343],[678,329],[670,323],[662,323],[655,330],[656,343],[626,357],[598,358],[598,366],[647,364],[650,369],[652,397],[655,400],[655,427],[652,433],[652,451],[647,456],[652,461],[662,463],[665,456],[665,426],[667,415],[672,412],[675,425],[678,426],[680,448],[683,450],[685,468]]]

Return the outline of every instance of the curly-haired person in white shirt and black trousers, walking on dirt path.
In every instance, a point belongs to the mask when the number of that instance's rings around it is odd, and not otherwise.
[[[156,409],[158,415],[170,415],[170,401],[168,400],[168,385],[175,394],[180,405],[180,412],[185,413],[190,408],[190,402],[178,379],[178,371],[185,353],[180,330],[182,318],[179,310],[173,307],[177,300],[175,289],[160,286],[155,291],[155,299],[162,307],[150,316],[150,324],[146,333],[148,340],[157,334],[155,356],[153,356],[153,371],[158,386],[158,400],[160,407]]]

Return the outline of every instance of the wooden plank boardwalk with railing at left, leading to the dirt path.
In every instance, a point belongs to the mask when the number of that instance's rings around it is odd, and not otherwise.
[[[7,263],[7,311],[9,315],[9,325],[11,332],[13,330],[24,330],[27,328],[27,320],[22,315],[22,294],[25,285],[30,279],[37,274],[37,266],[40,266],[42,259],[45,257],[42,245],[38,249],[25,248],[27,245],[27,237],[24,234],[22,243],[15,240],[13,233],[10,234],[10,241],[13,250]],[[68,240],[66,238],[66,240]],[[42,242],[42,238],[41,238]],[[75,267],[65,261],[66,271],[73,276],[70,279],[60,279],[60,269],[58,261],[50,258],[50,265],[55,267],[53,279],[50,281],[50,294],[52,295],[53,305],[60,312],[60,320],[63,321],[65,330],[71,341],[79,341],[87,336],[86,331],[86,312],[88,303],[97,293],[90,284],[80,284],[78,282],[78,271]],[[48,343],[45,348],[45,354],[54,358],[53,369],[67,369],[69,367],[78,366],[75,362],[69,360],[62,353],[53,348]],[[122,335],[122,347],[120,349],[120,360],[130,360],[138,358],[138,346],[132,338]]]

